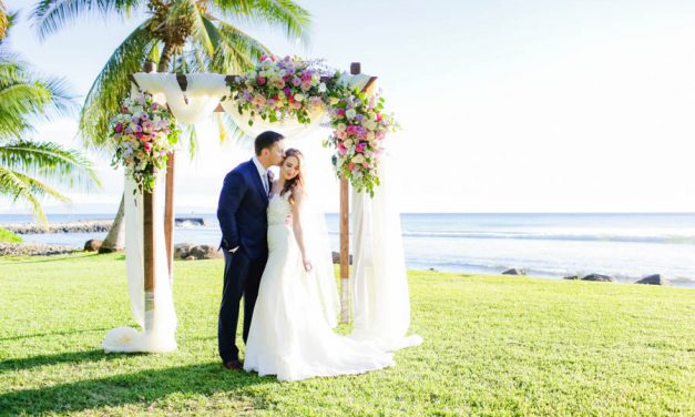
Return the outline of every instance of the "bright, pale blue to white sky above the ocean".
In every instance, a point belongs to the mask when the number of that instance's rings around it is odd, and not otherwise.
[[[401,212],[695,212],[695,3],[643,0],[298,1],[309,43],[238,26],[276,54],[359,61],[379,78],[402,130],[387,141],[389,187]],[[40,41],[23,12],[11,47],[80,100],[115,47],[141,22],[85,17]],[[200,126],[201,152],[177,160],[178,212],[213,212],[224,175],[251,156]],[[76,122],[54,120],[37,139],[79,148]],[[307,151],[315,193],[338,206],[321,134]],[[103,189],[68,191],[71,206],[115,211],[123,173],[91,155]],[[0,212],[18,212],[0,201]]]

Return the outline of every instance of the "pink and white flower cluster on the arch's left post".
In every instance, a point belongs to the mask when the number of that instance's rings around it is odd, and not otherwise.
[[[131,94],[121,112],[111,119],[115,153],[111,164],[125,166],[137,191],[152,192],[157,173],[166,166],[168,153],[178,142],[176,120],[151,94]]]

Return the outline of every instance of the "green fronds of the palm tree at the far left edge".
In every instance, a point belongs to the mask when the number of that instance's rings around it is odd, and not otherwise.
[[[0,3],[0,195],[24,203],[40,223],[47,224],[40,200],[70,200],[50,184],[68,186],[99,184],[92,163],[76,151],[52,142],[28,139],[32,125],[51,114],[74,110],[63,82],[33,73],[4,45],[12,16]]]

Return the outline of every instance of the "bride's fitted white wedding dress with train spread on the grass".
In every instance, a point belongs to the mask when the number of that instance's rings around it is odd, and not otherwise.
[[[268,262],[246,342],[244,369],[298,380],[392,366],[392,355],[375,344],[333,332],[335,312],[330,317],[321,299],[321,283],[316,282],[321,274],[316,274],[316,268],[305,272],[292,225],[285,222],[292,215],[288,197],[289,193],[275,194],[268,203]],[[331,279],[333,274],[324,278]]]

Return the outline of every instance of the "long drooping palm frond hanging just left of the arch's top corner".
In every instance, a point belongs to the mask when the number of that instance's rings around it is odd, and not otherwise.
[[[113,52],[92,84],[80,114],[80,135],[86,146],[111,152],[108,141],[109,120],[121,108],[130,91],[129,74],[142,71],[156,41],[150,35],[147,22],[135,29]]]

